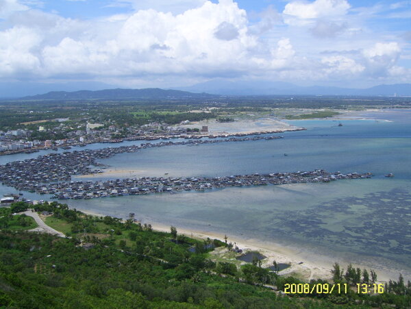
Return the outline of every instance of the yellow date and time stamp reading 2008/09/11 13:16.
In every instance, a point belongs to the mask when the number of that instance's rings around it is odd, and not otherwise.
[[[286,294],[332,294],[333,292],[347,294],[348,284],[284,284],[284,293]],[[356,292],[358,294],[382,294],[384,293],[384,284],[357,284]]]

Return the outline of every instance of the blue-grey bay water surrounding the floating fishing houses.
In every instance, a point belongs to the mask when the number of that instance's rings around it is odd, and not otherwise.
[[[308,130],[283,133],[280,140],[144,149],[101,162],[119,172],[134,170],[124,177],[326,169],[370,171],[375,174],[371,180],[67,202],[115,217],[134,212],[146,223],[271,241],[298,248],[307,258],[312,252],[411,278],[411,111],[364,116],[377,120],[289,121]],[[107,147],[92,147],[101,146]],[[395,177],[384,177],[387,173]]]

